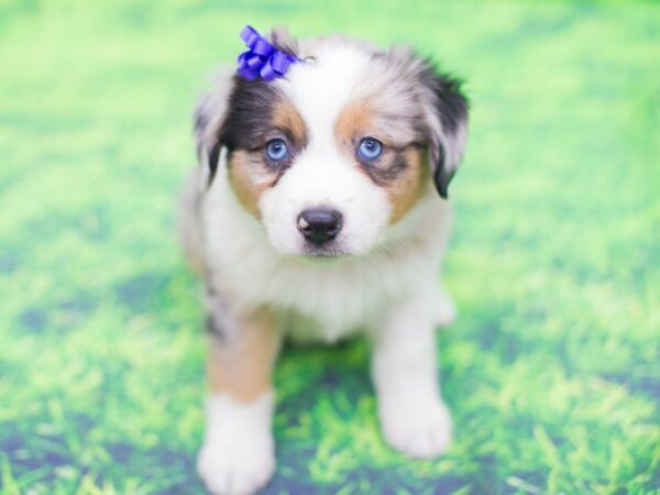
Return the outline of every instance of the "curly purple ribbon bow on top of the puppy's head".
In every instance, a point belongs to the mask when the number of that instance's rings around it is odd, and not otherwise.
[[[248,80],[258,77],[273,80],[284,76],[289,65],[298,62],[293,55],[275,48],[250,25],[243,28],[241,38],[249,50],[239,55],[239,74]]]

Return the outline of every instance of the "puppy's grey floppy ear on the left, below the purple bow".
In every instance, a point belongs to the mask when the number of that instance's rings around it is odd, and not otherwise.
[[[231,74],[220,75],[213,90],[201,96],[193,113],[197,160],[202,167],[201,177],[206,186],[212,183],[218,169],[223,145],[219,134],[227,117],[232,81]]]

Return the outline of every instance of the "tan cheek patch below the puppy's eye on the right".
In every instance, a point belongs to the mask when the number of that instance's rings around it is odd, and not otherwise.
[[[425,167],[424,152],[417,147],[409,147],[404,151],[404,157],[406,168],[385,188],[392,205],[391,224],[404,217],[426,190],[424,184],[427,180],[428,167]]]

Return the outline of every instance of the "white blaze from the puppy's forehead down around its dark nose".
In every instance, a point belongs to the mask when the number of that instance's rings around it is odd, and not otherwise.
[[[294,64],[275,81],[299,112],[308,142],[277,185],[261,200],[262,221],[282,253],[304,252],[300,213],[309,208],[338,210],[343,228],[334,244],[343,253],[364,253],[378,242],[389,218],[386,191],[360,170],[338,146],[334,127],[346,103],[359,97],[369,70],[369,51],[333,42],[315,47],[315,62]],[[304,228],[304,227],[302,227]]]

